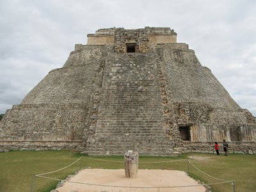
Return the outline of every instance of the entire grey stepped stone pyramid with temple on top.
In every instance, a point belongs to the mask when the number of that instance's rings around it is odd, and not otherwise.
[[[255,154],[255,117],[170,28],[89,34],[0,122],[2,149],[169,156],[213,152],[223,139],[230,152]]]

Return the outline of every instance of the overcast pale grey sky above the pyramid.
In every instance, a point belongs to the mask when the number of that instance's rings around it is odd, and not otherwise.
[[[256,1],[0,0],[0,113],[100,28],[170,27],[256,116]]]

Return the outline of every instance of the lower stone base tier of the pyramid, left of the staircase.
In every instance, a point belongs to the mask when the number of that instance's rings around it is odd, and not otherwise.
[[[86,108],[81,103],[13,106],[1,122],[4,136],[0,140],[82,140],[88,124]]]

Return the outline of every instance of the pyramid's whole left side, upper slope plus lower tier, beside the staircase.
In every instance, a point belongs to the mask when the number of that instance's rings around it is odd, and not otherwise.
[[[49,72],[20,105],[7,111],[0,140],[86,140],[111,51],[113,46],[76,46],[63,68]]]

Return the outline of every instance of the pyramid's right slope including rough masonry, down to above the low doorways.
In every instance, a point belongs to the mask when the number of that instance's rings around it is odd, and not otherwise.
[[[156,49],[168,100],[172,103],[170,110],[177,115],[178,124],[248,123],[245,113],[213,76],[211,70],[202,67],[195,52],[181,46],[183,47],[159,45]]]

